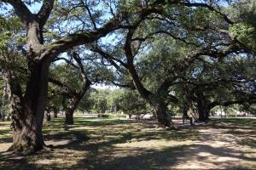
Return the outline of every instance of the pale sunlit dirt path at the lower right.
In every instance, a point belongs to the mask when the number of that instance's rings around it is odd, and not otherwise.
[[[221,123],[220,123],[221,124]],[[232,130],[222,127],[198,127],[201,139],[186,149],[177,169],[256,169],[256,148],[243,144],[256,140],[255,129]]]

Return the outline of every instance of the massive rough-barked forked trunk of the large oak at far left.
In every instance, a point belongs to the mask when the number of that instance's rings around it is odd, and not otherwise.
[[[26,28],[27,77],[25,94],[22,94],[14,70],[8,71],[8,89],[13,128],[10,150],[32,153],[44,148],[43,121],[48,91],[50,58],[44,49],[43,28],[53,8],[54,0],[45,1],[38,14],[32,14],[22,1],[7,1],[15,9]],[[11,60],[11,59],[9,59]],[[8,62],[10,62],[8,60]]]

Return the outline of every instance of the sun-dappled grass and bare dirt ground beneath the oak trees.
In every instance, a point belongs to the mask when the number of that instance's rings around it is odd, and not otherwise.
[[[154,122],[63,117],[44,122],[46,144],[31,156],[6,150],[9,122],[0,122],[0,169],[256,169],[256,119],[228,118],[181,130]]]

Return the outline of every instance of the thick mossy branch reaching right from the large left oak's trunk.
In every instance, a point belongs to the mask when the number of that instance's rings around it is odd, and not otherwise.
[[[137,26],[146,19],[149,14],[161,14],[162,10],[160,8],[143,8],[137,11],[137,20],[135,20],[132,24],[122,25],[125,17],[129,17],[129,14],[122,11],[119,14],[116,14],[113,19],[109,20],[107,24],[98,28],[95,31],[81,31],[74,34],[70,34],[67,37],[63,37],[60,40],[49,43],[49,45],[45,48],[46,54],[52,54],[55,56],[57,54],[61,54],[69,48],[73,48],[75,46],[79,46],[85,43],[95,42],[101,37],[105,37],[109,32],[122,29],[131,29],[137,28]]]

